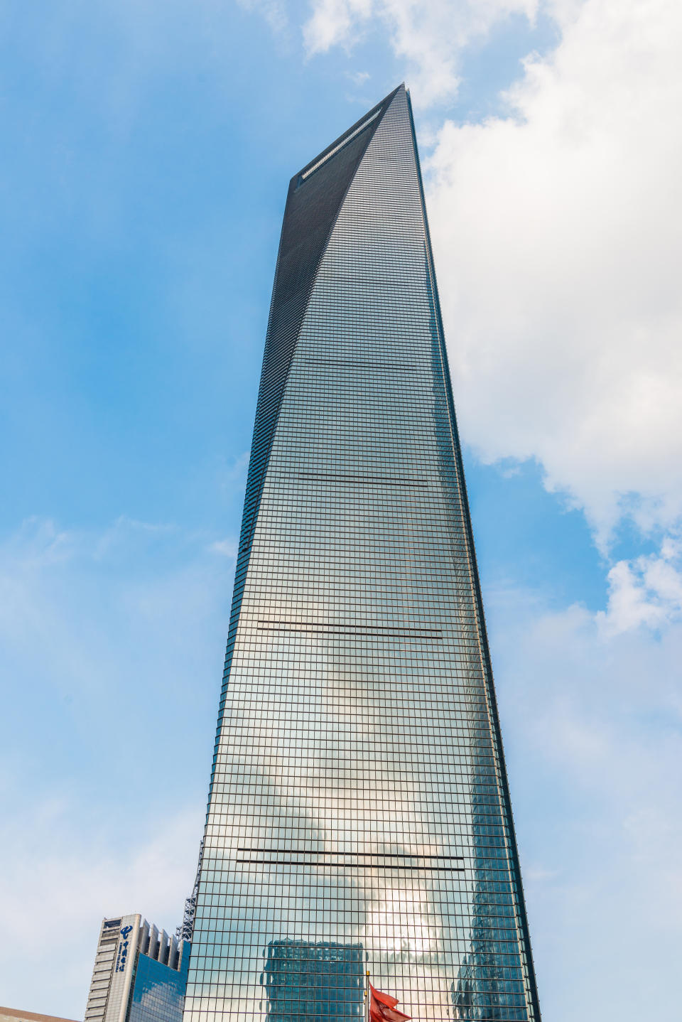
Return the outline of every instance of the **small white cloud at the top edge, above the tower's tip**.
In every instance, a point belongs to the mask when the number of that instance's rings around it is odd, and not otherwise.
[[[376,21],[394,54],[405,61],[416,103],[452,99],[459,85],[458,57],[470,43],[510,14],[532,20],[538,0],[314,0],[303,26],[308,54],[347,49]]]

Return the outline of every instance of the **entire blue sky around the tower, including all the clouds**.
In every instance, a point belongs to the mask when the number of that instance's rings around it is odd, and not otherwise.
[[[180,921],[287,182],[404,80],[545,1017],[676,1017],[681,37],[0,3],[1,1003],[82,1018],[103,915]]]

